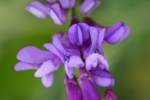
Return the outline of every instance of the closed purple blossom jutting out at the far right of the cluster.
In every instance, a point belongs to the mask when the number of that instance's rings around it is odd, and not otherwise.
[[[118,44],[127,39],[130,33],[130,28],[123,22],[118,22],[112,27],[107,28],[107,34],[105,35],[105,41],[109,44]]]

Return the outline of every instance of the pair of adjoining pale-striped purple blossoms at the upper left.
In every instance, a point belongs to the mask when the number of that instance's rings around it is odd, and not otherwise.
[[[34,1],[26,7],[26,10],[41,19],[50,16],[57,25],[63,25],[66,21],[66,10],[54,1],[49,1],[47,4]]]

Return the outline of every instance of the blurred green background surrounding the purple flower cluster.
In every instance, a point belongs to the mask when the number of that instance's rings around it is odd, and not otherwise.
[[[25,6],[31,1],[0,0],[0,100],[66,100],[62,69],[49,89],[33,77],[34,71],[14,71],[20,48],[43,48],[54,32],[67,29],[67,25],[56,26],[51,19],[39,20],[27,13]],[[111,72],[117,80],[114,90],[119,100],[150,100],[150,0],[102,0],[91,17],[107,26],[118,21],[131,26],[127,41],[105,45]]]

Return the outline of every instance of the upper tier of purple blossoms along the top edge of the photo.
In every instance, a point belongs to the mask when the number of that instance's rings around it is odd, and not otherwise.
[[[100,5],[100,0],[81,0],[80,10],[84,15],[90,13]],[[34,1],[27,6],[27,11],[38,18],[51,17],[55,24],[63,25],[66,21],[67,12],[73,9],[76,0],[48,0],[46,3]]]

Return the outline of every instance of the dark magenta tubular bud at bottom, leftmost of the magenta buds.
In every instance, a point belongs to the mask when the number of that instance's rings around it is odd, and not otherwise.
[[[81,89],[75,79],[65,77],[67,100],[83,100]]]

